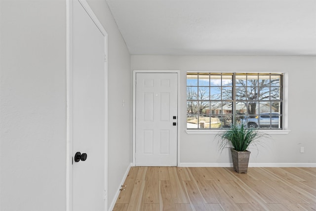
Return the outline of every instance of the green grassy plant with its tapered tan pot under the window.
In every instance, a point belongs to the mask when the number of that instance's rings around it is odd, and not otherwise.
[[[247,173],[250,152],[249,145],[256,145],[258,140],[265,136],[256,128],[247,128],[243,124],[232,125],[216,136],[220,137],[219,148],[223,151],[231,147],[234,170],[237,173]]]

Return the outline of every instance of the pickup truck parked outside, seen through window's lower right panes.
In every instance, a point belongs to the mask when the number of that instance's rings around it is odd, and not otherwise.
[[[244,124],[247,127],[279,127],[280,116],[277,112],[261,113],[259,118],[246,118]]]

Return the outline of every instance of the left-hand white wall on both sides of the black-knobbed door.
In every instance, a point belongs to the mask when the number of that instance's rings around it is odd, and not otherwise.
[[[109,205],[130,164],[130,55],[105,0]],[[0,210],[66,210],[66,1],[0,0]],[[125,105],[122,106],[124,99]]]

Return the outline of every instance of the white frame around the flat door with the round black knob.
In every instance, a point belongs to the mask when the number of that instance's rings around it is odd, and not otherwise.
[[[73,1],[66,0],[66,89],[67,89],[67,137],[66,137],[66,211],[72,211],[72,162],[73,162],[73,131],[72,131],[72,84],[73,84]],[[94,24],[104,36],[104,81],[105,81],[105,122],[104,122],[104,190],[105,210],[108,209],[108,33],[94,14],[86,0],[78,0],[90,16]]]

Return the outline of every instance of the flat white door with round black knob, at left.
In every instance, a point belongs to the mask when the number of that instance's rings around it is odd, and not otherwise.
[[[72,210],[105,211],[106,37],[81,3],[72,1]]]

